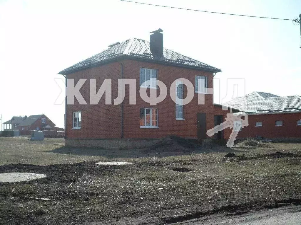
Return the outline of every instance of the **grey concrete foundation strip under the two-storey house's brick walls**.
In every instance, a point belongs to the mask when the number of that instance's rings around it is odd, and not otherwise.
[[[161,139],[65,139],[65,146],[102,149],[142,149],[160,143]]]

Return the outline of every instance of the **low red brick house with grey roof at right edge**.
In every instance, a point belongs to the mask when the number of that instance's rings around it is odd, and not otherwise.
[[[278,96],[265,92],[245,95],[249,126],[239,132],[238,138],[301,138],[301,97]],[[226,103],[239,110],[239,98]]]

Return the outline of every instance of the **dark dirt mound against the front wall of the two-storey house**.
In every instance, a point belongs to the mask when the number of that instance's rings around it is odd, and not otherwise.
[[[168,136],[146,149],[147,152],[191,152],[198,146],[181,137]]]

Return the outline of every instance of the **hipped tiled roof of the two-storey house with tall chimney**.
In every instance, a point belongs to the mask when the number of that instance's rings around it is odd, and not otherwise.
[[[118,43],[118,42],[117,42]],[[112,45],[111,45],[112,46]],[[132,58],[144,59],[146,61],[156,61],[158,63],[177,65],[182,67],[196,68],[210,72],[221,72],[220,69],[189,58],[185,55],[163,48],[163,57],[154,57],[151,53],[150,42],[138,38],[131,38],[119,44],[113,44],[107,50],[100,52],[90,58],[85,59],[67,69],[62,70],[59,74],[69,74],[77,70],[104,63],[106,61],[118,58],[120,56],[128,56]]]

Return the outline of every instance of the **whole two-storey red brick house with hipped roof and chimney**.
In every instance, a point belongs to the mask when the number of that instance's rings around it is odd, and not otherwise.
[[[221,71],[163,48],[161,32],[160,29],[152,32],[150,42],[137,38],[117,42],[109,49],[59,72],[66,79],[73,78],[74,84],[81,78],[88,79],[80,89],[87,104],[81,105],[76,99],[73,105],[66,103],[66,144],[82,144],[82,140],[156,139],[168,135],[205,139],[208,138],[206,130],[224,120],[228,111],[223,111],[220,105],[213,105],[212,94],[205,93],[205,104],[198,105],[195,93],[193,100],[183,107],[176,105],[169,94],[156,106],[150,106],[141,99],[141,83],[150,77],[162,81],[167,90],[178,78],[186,78],[194,85],[197,79],[202,79],[203,86],[195,89],[201,92],[203,88],[213,87],[213,76]],[[106,105],[103,96],[97,105],[91,105],[91,78],[97,79],[97,90],[104,79],[112,79],[112,99],[118,96],[119,78],[135,78],[136,105],[129,104],[128,86],[122,104]],[[185,85],[179,86],[177,91],[185,98]],[[228,138],[229,134],[230,129],[220,132],[215,138]]]

